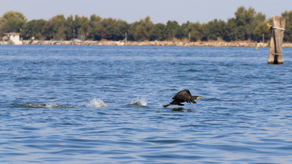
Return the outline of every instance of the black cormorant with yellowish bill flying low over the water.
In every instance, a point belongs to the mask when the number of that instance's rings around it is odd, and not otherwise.
[[[181,102],[188,102],[188,103],[197,103],[195,99],[202,98],[201,96],[191,96],[191,92],[189,90],[182,90],[181,92],[178,92],[174,95],[172,99],[174,99],[172,102],[170,102],[168,105],[163,105],[163,107],[168,107],[170,105],[180,105],[183,106],[184,104],[181,104]]]

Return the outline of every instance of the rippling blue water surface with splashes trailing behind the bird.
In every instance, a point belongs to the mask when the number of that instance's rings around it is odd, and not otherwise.
[[[292,163],[292,49],[0,46],[0,163]],[[196,104],[161,107],[180,90]]]

